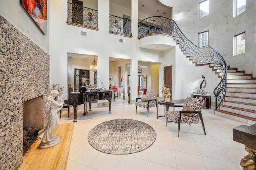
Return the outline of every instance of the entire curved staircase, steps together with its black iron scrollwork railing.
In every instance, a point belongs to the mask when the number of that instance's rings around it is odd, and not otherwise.
[[[214,89],[215,114],[252,125],[256,123],[256,78],[227,66],[224,58],[210,46],[197,47],[174,20],[155,16],[138,23],[138,39],[149,35],[169,35],[190,61],[208,65],[221,78]]]

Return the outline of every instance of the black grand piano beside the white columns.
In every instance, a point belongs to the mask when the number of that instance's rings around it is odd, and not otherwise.
[[[90,90],[88,91],[86,87],[81,87],[79,92],[74,92],[69,94],[68,100],[64,100],[65,104],[72,105],[74,107],[74,121],[76,122],[77,118],[77,107],[80,104],[84,105],[83,115],[88,114],[87,104],[89,103],[89,111],[92,108],[92,102],[98,100],[108,100],[109,102],[109,113],[111,113],[111,100],[113,99],[114,91],[113,90]]]

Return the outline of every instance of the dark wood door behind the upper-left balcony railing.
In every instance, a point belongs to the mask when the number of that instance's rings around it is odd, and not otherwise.
[[[83,24],[83,2],[72,0],[72,23]]]

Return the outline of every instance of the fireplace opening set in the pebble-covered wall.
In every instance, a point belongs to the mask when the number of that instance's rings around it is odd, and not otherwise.
[[[23,155],[37,139],[38,132],[43,129],[44,100],[43,96],[23,102]]]

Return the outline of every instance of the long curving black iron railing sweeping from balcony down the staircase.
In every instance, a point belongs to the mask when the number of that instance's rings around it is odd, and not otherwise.
[[[227,64],[224,58],[210,46],[197,47],[179,29],[174,20],[165,17],[150,17],[138,23],[138,38],[150,33],[164,33],[174,37],[186,55],[197,61],[197,64],[210,64],[222,74],[222,80],[214,89],[215,109],[224,100],[227,88]]]

